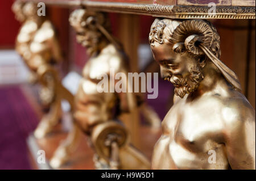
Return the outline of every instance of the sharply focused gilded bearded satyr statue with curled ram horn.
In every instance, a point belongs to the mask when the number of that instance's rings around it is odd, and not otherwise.
[[[219,60],[216,28],[155,19],[149,41],[162,78],[175,86],[152,169],[255,169],[255,110]]]

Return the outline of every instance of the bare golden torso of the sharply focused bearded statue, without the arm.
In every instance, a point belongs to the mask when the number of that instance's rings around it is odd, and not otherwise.
[[[152,169],[229,169],[224,134],[226,125],[239,119],[241,101],[247,104],[236,91],[208,92],[193,101],[186,95],[177,100],[164,117]]]

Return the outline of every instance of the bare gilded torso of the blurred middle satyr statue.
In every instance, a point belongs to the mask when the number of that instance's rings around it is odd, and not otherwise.
[[[107,74],[109,80],[110,69],[115,73],[126,70],[122,54],[112,44],[102,49],[98,56],[90,58],[84,67],[75,98],[75,117],[81,124],[93,125],[113,118],[111,110],[115,106],[117,95],[114,92],[97,90],[97,83],[101,81],[97,77]]]

